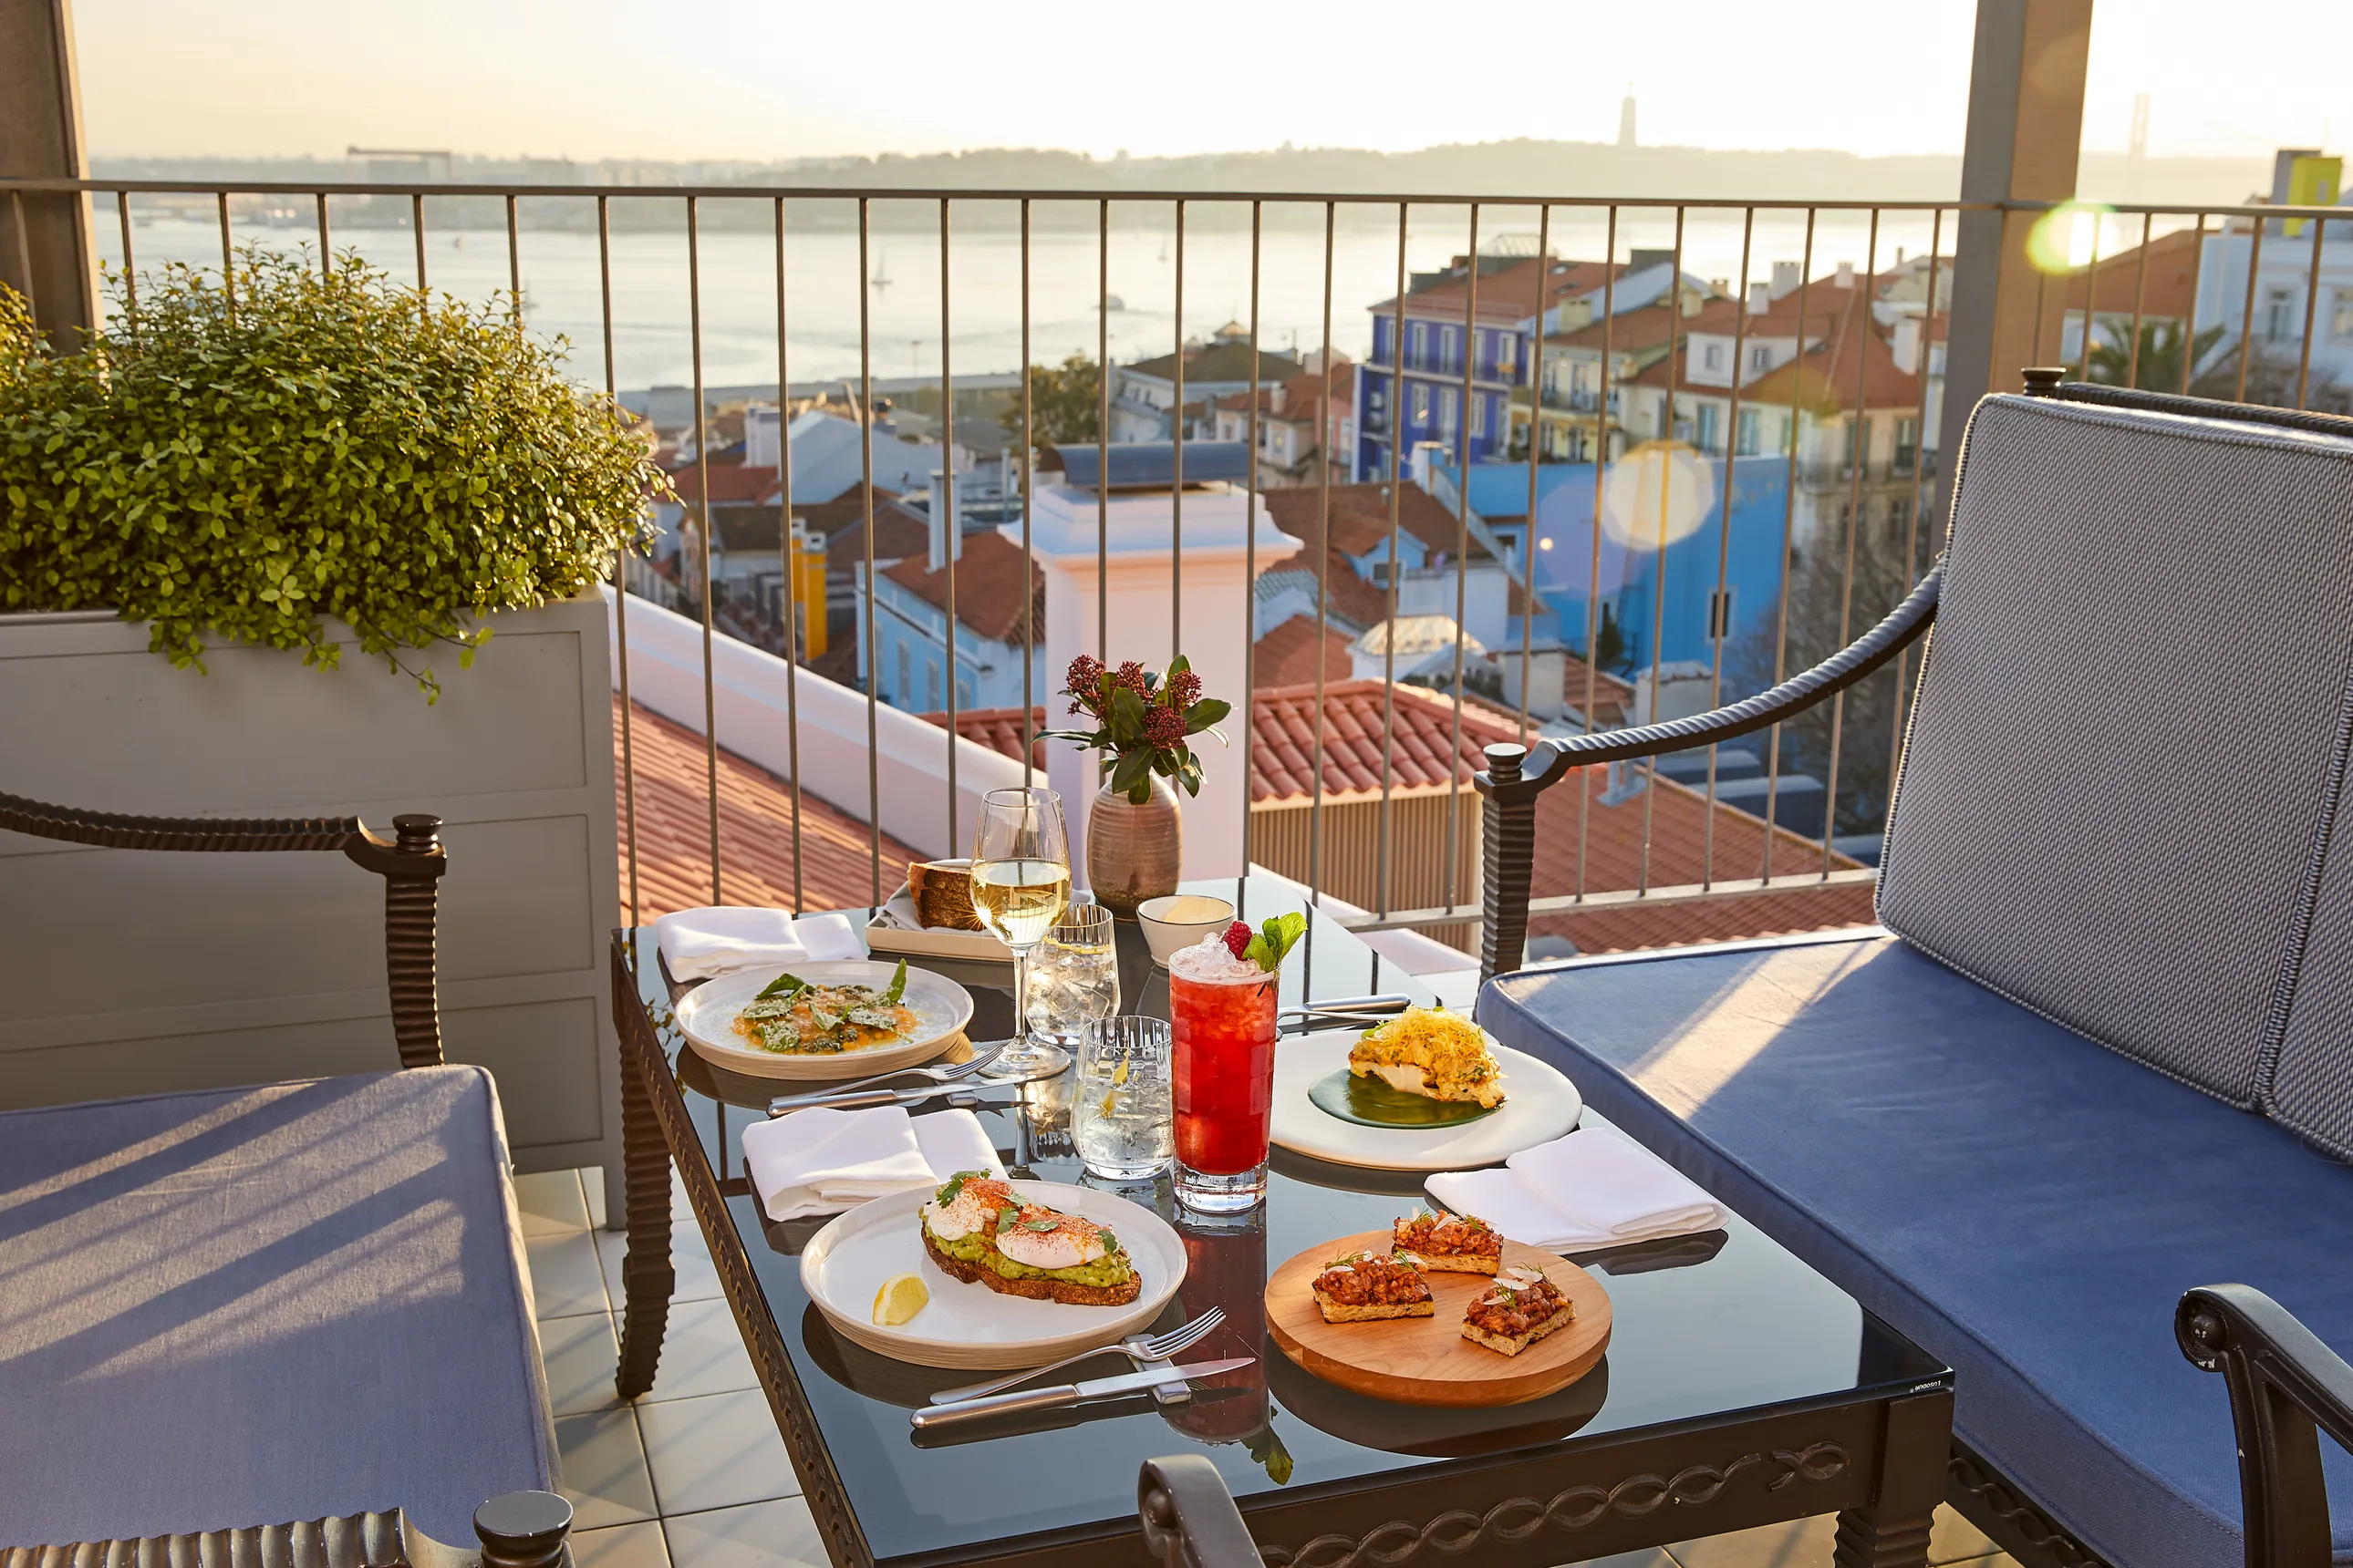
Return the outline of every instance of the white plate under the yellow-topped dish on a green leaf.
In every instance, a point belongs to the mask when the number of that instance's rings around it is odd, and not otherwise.
[[[1428,1128],[1358,1126],[1327,1117],[1308,1100],[1315,1079],[1348,1067],[1355,1041],[1355,1032],[1337,1032],[1301,1034],[1275,1046],[1271,1131],[1280,1147],[1341,1166],[1471,1171],[1569,1133],[1586,1107],[1577,1084],[1525,1051],[1494,1044],[1489,1034],[1487,1051],[1504,1070],[1504,1105],[1492,1117]]]

